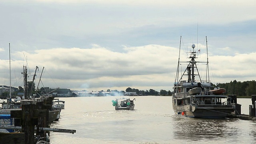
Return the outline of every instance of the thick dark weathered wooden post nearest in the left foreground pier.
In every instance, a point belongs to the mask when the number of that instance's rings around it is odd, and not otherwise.
[[[33,110],[36,109],[36,101],[22,100],[21,105],[22,132],[25,133],[25,144],[34,144],[34,126],[37,125],[37,120],[33,118]]]

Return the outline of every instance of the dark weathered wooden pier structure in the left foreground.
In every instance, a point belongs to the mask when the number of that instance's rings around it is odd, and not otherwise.
[[[49,141],[50,131],[74,134],[76,130],[50,128],[49,110],[54,98],[44,97],[21,100],[22,110],[12,110],[10,118],[14,125],[2,125],[0,129],[18,130],[19,132],[0,133],[4,144],[36,144],[38,140]],[[36,136],[36,137],[35,137]]]

